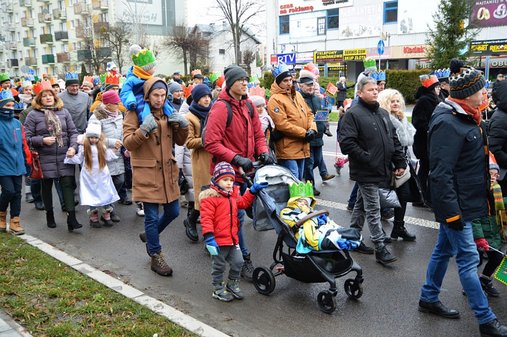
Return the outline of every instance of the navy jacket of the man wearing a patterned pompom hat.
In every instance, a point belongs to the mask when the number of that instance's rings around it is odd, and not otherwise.
[[[494,214],[485,127],[484,121],[478,125],[448,99],[431,116],[429,180],[438,222],[472,221]]]

